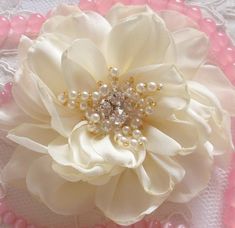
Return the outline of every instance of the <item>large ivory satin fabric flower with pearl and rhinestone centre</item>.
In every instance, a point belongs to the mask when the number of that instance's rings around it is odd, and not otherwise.
[[[208,45],[178,13],[58,7],[21,40],[5,126],[19,146],[3,180],[26,181],[58,214],[98,207],[121,225],[188,202],[233,148],[234,87],[206,62]]]

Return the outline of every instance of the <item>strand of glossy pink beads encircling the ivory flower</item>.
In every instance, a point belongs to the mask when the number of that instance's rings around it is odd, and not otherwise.
[[[117,2],[126,5],[141,5],[148,4],[155,11],[174,10],[185,14],[192,20],[198,23],[200,30],[205,32],[210,38],[210,58],[221,67],[224,73],[228,76],[232,83],[235,84],[235,47],[228,35],[217,29],[216,23],[211,18],[203,18],[199,7],[186,5],[184,0],[80,0],[79,7],[83,10],[97,11],[105,15],[107,11]],[[49,14],[48,14],[49,15]],[[47,15],[47,16],[48,16]],[[41,14],[31,14],[29,17],[17,15],[10,20],[4,16],[0,16],[0,47],[12,48],[19,43],[20,37],[26,35],[36,37],[40,28],[47,16]],[[11,100],[12,82],[8,82],[0,91],[0,105],[3,105]],[[235,164],[235,156],[232,164]],[[230,174],[230,185],[228,186],[225,197],[225,219],[224,224],[235,214],[235,165]],[[231,217],[231,218],[230,218]],[[37,226],[28,224],[23,218],[17,217],[14,212],[10,211],[4,200],[0,201],[0,218],[6,225],[11,225],[14,228],[36,228]],[[227,219],[229,218],[229,219]],[[229,220],[229,221],[230,221]],[[228,227],[235,227],[235,223],[229,224]],[[108,224],[98,224],[94,228],[118,228],[112,222]],[[170,221],[160,223],[158,220],[142,220],[129,228],[186,228],[186,224],[173,224]],[[85,227],[84,227],[85,228]],[[88,228],[88,227],[86,227]]]

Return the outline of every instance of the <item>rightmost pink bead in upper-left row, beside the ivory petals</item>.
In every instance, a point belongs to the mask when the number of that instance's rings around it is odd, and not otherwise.
[[[27,25],[28,29],[26,31],[27,34],[29,36],[38,35],[45,19],[46,18],[43,15],[39,14],[39,13],[31,14],[28,18],[28,25]]]

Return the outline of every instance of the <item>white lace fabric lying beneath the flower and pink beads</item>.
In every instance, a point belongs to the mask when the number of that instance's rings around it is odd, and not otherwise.
[[[157,0],[156,0],[157,1]],[[231,38],[235,39],[235,1],[234,0],[191,0],[191,4],[200,5],[205,14],[212,15],[222,29],[226,29]],[[14,15],[21,12],[37,12],[46,14],[51,8],[60,3],[78,4],[76,0],[0,0],[1,14]],[[4,84],[12,76],[16,68],[15,52],[0,51],[0,84]],[[9,160],[15,145],[0,135],[0,169]],[[208,187],[187,207],[191,211],[192,228],[223,228],[222,209],[223,192],[227,183],[228,170],[215,167]],[[40,204],[25,190],[7,188],[7,201],[10,208],[28,221],[55,228],[76,228],[82,225],[91,226],[104,222],[97,210],[79,217],[59,216]],[[165,210],[165,211],[164,211]],[[160,211],[159,217],[166,219],[167,207]]]

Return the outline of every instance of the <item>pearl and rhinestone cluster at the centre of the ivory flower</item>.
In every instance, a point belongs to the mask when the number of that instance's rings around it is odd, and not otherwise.
[[[92,134],[110,134],[119,145],[138,149],[147,142],[141,132],[143,119],[154,113],[157,105],[154,95],[163,85],[135,83],[132,77],[121,81],[117,68],[110,68],[109,76],[110,82],[98,82],[92,93],[63,92],[58,100],[70,109],[80,109]]]

